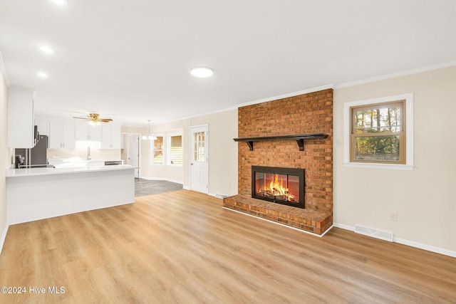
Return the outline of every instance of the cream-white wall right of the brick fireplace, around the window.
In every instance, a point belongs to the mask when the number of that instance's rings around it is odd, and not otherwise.
[[[343,103],[414,95],[413,171],[343,166]],[[456,67],[334,90],[334,222],[456,251]],[[398,221],[390,221],[390,213]]]

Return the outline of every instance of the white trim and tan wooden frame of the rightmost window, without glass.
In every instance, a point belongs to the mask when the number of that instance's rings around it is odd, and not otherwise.
[[[402,117],[403,135],[402,142],[400,142],[400,152],[404,153],[403,162],[383,162],[383,161],[360,161],[354,159],[354,138],[359,135],[352,134],[352,128],[354,124],[354,118],[352,115],[353,108],[375,108],[379,105],[388,103],[399,103],[401,100],[405,100],[405,117]],[[401,169],[401,170],[413,170],[413,93],[386,96],[382,98],[372,98],[367,100],[358,100],[353,102],[344,103],[344,166],[346,167],[362,167],[362,168],[373,168],[373,169]],[[397,134],[395,133],[389,133]],[[383,135],[383,136],[386,136]]]

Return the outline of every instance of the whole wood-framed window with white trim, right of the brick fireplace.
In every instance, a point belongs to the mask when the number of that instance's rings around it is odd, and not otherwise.
[[[413,169],[413,94],[344,104],[345,164]]]

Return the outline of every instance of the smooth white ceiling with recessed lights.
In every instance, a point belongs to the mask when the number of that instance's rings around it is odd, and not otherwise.
[[[144,126],[455,61],[455,16],[453,0],[0,0],[0,51],[37,115]]]

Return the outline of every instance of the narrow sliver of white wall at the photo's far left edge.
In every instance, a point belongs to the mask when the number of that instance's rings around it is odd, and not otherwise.
[[[4,76],[0,71],[0,252],[6,236],[6,177],[5,169],[11,165],[11,152],[6,147],[8,139],[8,103]]]

